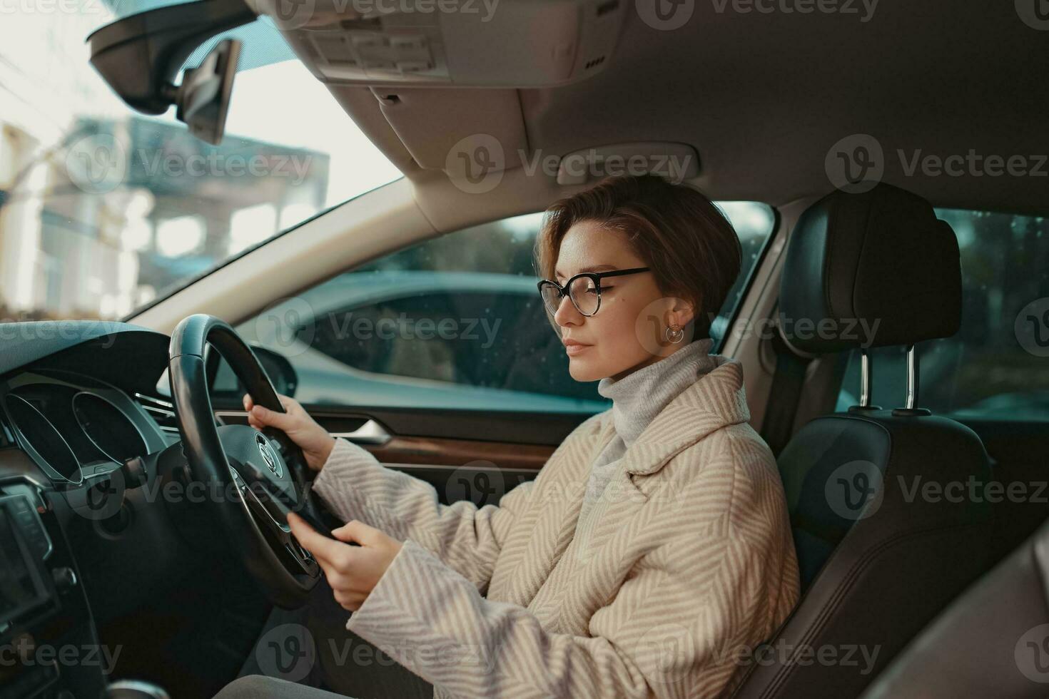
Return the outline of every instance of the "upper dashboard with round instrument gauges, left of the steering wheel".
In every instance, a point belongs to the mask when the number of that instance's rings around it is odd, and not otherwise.
[[[168,342],[126,324],[0,324],[0,481],[65,489],[177,440],[156,396]]]

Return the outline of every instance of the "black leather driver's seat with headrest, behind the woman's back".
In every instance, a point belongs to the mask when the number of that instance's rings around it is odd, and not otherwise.
[[[799,353],[860,348],[864,386],[860,406],[808,422],[779,455],[802,594],[744,658],[734,697],[859,696],[989,565],[985,499],[959,498],[951,485],[986,483],[986,451],[971,430],[917,402],[913,346],[954,334],[960,319],[958,243],[924,199],[879,184],[828,195],[798,220],[782,334]],[[895,345],[909,350],[908,395],[882,410],[870,405],[865,349]]]

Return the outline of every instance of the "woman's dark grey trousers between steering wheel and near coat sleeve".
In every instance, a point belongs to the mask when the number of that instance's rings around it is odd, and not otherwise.
[[[274,608],[235,681],[215,699],[432,699],[433,686],[346,630],[321,578],[304,607]]]

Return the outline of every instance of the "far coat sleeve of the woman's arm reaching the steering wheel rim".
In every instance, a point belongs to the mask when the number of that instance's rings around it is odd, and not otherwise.
[[[533,483],[521,483],[498,506],[465,500],[443,505],[429,483],[382,465],[345,439],[314,480],[314,489],[343,521],[359,520],[398,540],[410,539],[484,590]]]

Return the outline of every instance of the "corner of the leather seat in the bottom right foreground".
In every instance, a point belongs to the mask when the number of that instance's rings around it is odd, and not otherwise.
[[[1049,524],[952,603],[863,699],[1045,697],[1047,581]]]

